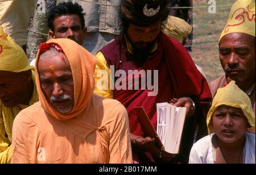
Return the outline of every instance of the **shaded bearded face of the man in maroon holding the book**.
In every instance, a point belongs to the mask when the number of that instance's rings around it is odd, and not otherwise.
[[[161,22],[147,27],[135,26],[130,23],[127,28],[127,36],[135,49],[150,49],[159,35],[160,27]]]

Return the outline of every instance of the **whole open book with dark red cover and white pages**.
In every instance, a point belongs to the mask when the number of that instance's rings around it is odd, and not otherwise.
[[[157,131],[152,126],[143,107],[134,107],[144,136],[156,138],[159,148],[168,153],[177,154],[179,153],[186,108],[172,106],[169,103],[157,103],[156,107],[158,114]]]

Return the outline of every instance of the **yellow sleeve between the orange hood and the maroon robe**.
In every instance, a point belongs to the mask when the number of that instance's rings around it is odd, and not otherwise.
[[[109,66],[101,52],[97,53],[96,59],[97,64],[94,72],[95,87],[93,93],[104,98],[113,99],[113,90],[110,89],[113,85],[113,80],[110,76]]]

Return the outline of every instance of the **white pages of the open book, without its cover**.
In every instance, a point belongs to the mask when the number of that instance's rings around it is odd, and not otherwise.
[[[156,103],[158,125],[156,132],[166,152],[179,153],[180,140],[186,115],[186,107],[169,103]]]

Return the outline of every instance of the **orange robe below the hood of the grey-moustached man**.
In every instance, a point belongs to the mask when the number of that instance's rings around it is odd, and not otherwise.
[[[61,121],[38,102],[15,118],[11,163],[133,163],[126,109],[92,95],[82,115]]]

